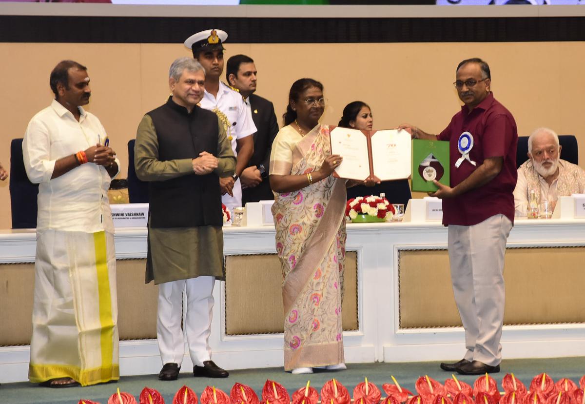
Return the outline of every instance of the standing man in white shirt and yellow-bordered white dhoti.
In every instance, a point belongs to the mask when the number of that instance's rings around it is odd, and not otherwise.
[[[116,258],[111,177],[119,161],[90,101],[87,68],[61,61],[55,99],[35,115],[22,143],[39,183],[29,380],[49,387],[119,379]]]

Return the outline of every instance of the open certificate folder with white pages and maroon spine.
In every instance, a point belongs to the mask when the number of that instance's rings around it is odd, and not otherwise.
[[[359,131],[329,126],[331,153],[343,157],[333,175],[364,181],[400,180],[411,174],[410,133],[398,129]]]

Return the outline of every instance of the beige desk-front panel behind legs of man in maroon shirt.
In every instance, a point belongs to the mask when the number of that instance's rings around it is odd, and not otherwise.
[[[585,323],[584,259],[585,247],[507,249],[504,324]],[[401,251],[399,278],[402,328],[461,325],[446,250]]]

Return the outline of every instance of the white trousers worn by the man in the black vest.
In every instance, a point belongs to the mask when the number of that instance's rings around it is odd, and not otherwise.
[[[215,276],[175,280],[159,284],[159,307],[156,337],[163,364],[181,366],[185,354],[185,339],[194,365],[202,366],[211,359],[208,340],[211,334],[212,309],[214,307]],[[183,304],[183,291],[187,296]],[[181,316],[184,316],[184,330]]]

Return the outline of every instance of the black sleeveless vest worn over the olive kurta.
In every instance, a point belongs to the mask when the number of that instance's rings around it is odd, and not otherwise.
[[[217,156],[218,117],[207,109],[177,105],[171,98],[147,113],[159,141],[159,160],[194,159],[201,152]],[[150,227],[221,226],[223,214],[219,177],[195,173],[165,181],[151,181]]]

